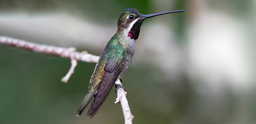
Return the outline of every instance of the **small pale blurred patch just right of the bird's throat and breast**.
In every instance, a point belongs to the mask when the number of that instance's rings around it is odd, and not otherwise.
[[[174,77],[179,76],[182,69],[181,50],[170,28],[165,24],[157,21],[151,21],[147,25],[142,24],[134,61],[156,65],[166,73],[164,76],[175,79]]]

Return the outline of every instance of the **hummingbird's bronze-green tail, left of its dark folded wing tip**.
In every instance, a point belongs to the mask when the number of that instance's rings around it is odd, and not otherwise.
[[[81,103],[79,109],[77,110],[77,113],[76,113],[77,116],[80,116],[83,113],[84,109],[89,104],[89,102],[92,100],[96,91],[97,91],[97,88],[95,88],[93,91],[90,91],[90,89],[87,91],[83,102]]]

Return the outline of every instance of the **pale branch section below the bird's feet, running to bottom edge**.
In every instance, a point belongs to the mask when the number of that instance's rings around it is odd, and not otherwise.
[[[120,80],[117,80],[118,83],[121,84]],[[124,89],[121,87],[117,89],[117,98],[115,103],[120,103],[122,105],[123,114],[124,114],[124,124],[132,124],[132,119],[134,116],[131,113],[128,101],[126,99],[127,92],[124,91]]]

